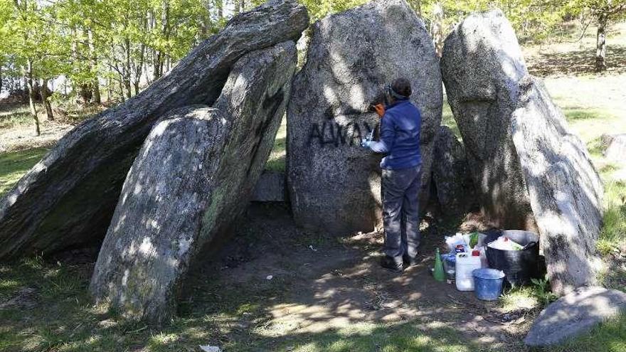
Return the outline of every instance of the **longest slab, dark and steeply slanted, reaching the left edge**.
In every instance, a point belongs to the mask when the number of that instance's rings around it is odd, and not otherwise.
[[[213,105],[243,55],[297,40],[309,26],[296,0],[233,17],[144,92],[78,125],[0,200],[0,259],[100,242],[124,178],[157,120]]]

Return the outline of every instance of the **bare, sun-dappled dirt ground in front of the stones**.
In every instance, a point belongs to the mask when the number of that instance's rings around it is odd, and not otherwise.
[[[257,336],[270,338],[271,347],[292,336],[354,325],[418,321],[426,333],[442,327],[460,331],[481,349],[524,351],[521,339],[534,309],[505,311],[498,302],[479,301],[473,292],[433,279],[435,247],[447,234],[436,225],[423,231],[420,264],[394,274],[378,266],[381,233],[312,235],[299,230],[282,206],[251,206],[240,224],[220,260],[193,270],[181,304],[182,314],[207,301],[253,306],[243,320],[231,321],[239,329],[212,336],[216,343]]]

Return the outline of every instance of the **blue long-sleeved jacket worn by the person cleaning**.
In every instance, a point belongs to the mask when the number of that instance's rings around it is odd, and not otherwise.
[[[376,153],[387,154],[381,168],[402,170],[422,164],[421,127],[420,110],[410,100],[398,100],[386,107],[381,119],[381,140],[370,144]]]

